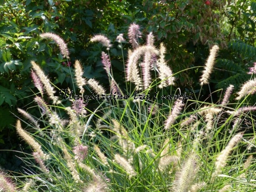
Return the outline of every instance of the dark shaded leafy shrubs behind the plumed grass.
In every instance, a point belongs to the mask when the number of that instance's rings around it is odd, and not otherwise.
[[[221,51],[211,77],[212,91],[225,89],[229,84],[237,90],[251,77],[248,68],[256,62],[253,0],[218,0],[210,5],[203,0],[0,0],[0,149],[20,150],[14,130],[17,108],[40,115],[31,103],[37,92],[30,78],[31,60],[43,68],[57,87],[71,88],[68,64],[72,71],[75,59],[79,59],[84,65],[84,76],[96,78],[108,89],[100,59],[105,48],[89,42],[93,35],[104,34],[114,43],[110,55],[115,80],[125,88],[121,49],[115,39],[120,33],[126,37],[133,22],[141,26],[141,43],[151,31],[156,36],[156,46],[165,43],[166,59],[177,73],[175,87],[183,92],[199,92],[202,68],[178,72],[203,66],[214,43],[219,44]],[[43,32],[56,33],[67,42],[69,61],[63,59],[53,41],[39,37]],[[125,59],[128,48],[125,44]],[[199,99],[204,100],[210,93],[209,87],[204,87],[202,93],[205,97]],[[18,171],[21,161],[14,153],[1,151],[0,165]]]

